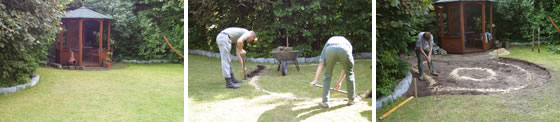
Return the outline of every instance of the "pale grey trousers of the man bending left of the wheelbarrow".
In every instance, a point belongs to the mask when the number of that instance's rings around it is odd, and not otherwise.
[[[218,43],[218,48],[220,49],[220,59],[222,60],[222,75],[224,78],[230,78],[230,74],[233,73],[230,54],[231,39],[229,39],[229,35],[220,33],[216,37],[216,42]]]

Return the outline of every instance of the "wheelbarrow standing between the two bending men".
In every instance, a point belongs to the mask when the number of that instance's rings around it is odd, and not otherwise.
[[[270,52],[276,60],[278,60],[278,69],[282,69],[282,76],[286,76],[288,74],[288,61],[292,61],[299,72],[299,64],[297,62],[297,57],[299,56],[299,51],[295,50],[286,50],[286,51],[278,51],[273,50]]]

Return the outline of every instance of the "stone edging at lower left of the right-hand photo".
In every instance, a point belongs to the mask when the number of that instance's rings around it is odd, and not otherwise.
[[[412,73],[408,71],[408,73],[406,73],[406,77],[404,77],[401,80],[401,82],[399,82],[397,87],[395,87],[395,89],[393,90],[393,94],[391,94],[390,96],[383,96],[379,99],[376,99],[375,109],[379,110],[382,108],[384,102],[387,102],[389,100],[392,101],[397,99],[398,97],[401,97],[404,93],[406,93],[406,91],[408,91],[411,82],[412,82]]]

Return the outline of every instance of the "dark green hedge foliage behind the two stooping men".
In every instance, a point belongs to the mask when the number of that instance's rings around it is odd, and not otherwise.
[[[271,57],[286,45],[317,56],[333,35],[347,37],[355,52],[371,51],[371,0],[190,1],[189,49],[218,51],[216,35],[227,27],[254,30],[258,43],[248,44],[251,57]]]

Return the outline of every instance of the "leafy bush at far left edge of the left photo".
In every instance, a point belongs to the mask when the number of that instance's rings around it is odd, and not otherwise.
[[[0,87],[29,81],[59,31],[54,1],[0,1]]]

